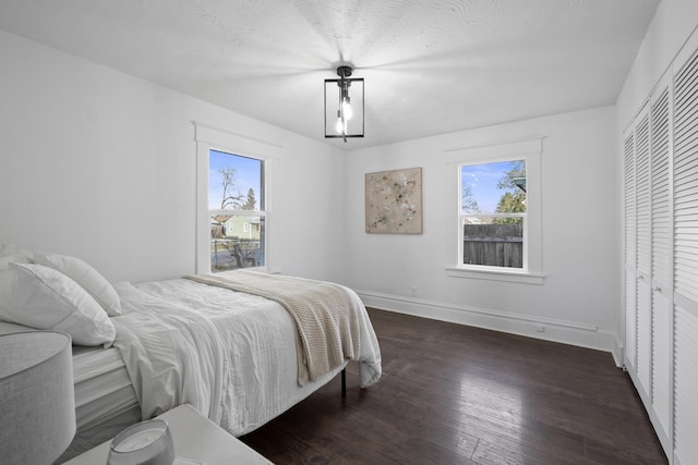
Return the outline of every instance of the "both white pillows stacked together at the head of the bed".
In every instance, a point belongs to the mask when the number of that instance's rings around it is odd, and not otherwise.
[[[69,333],[73,344],[113,343],[113,286],[83,260],[0,243],[0,320]]]

